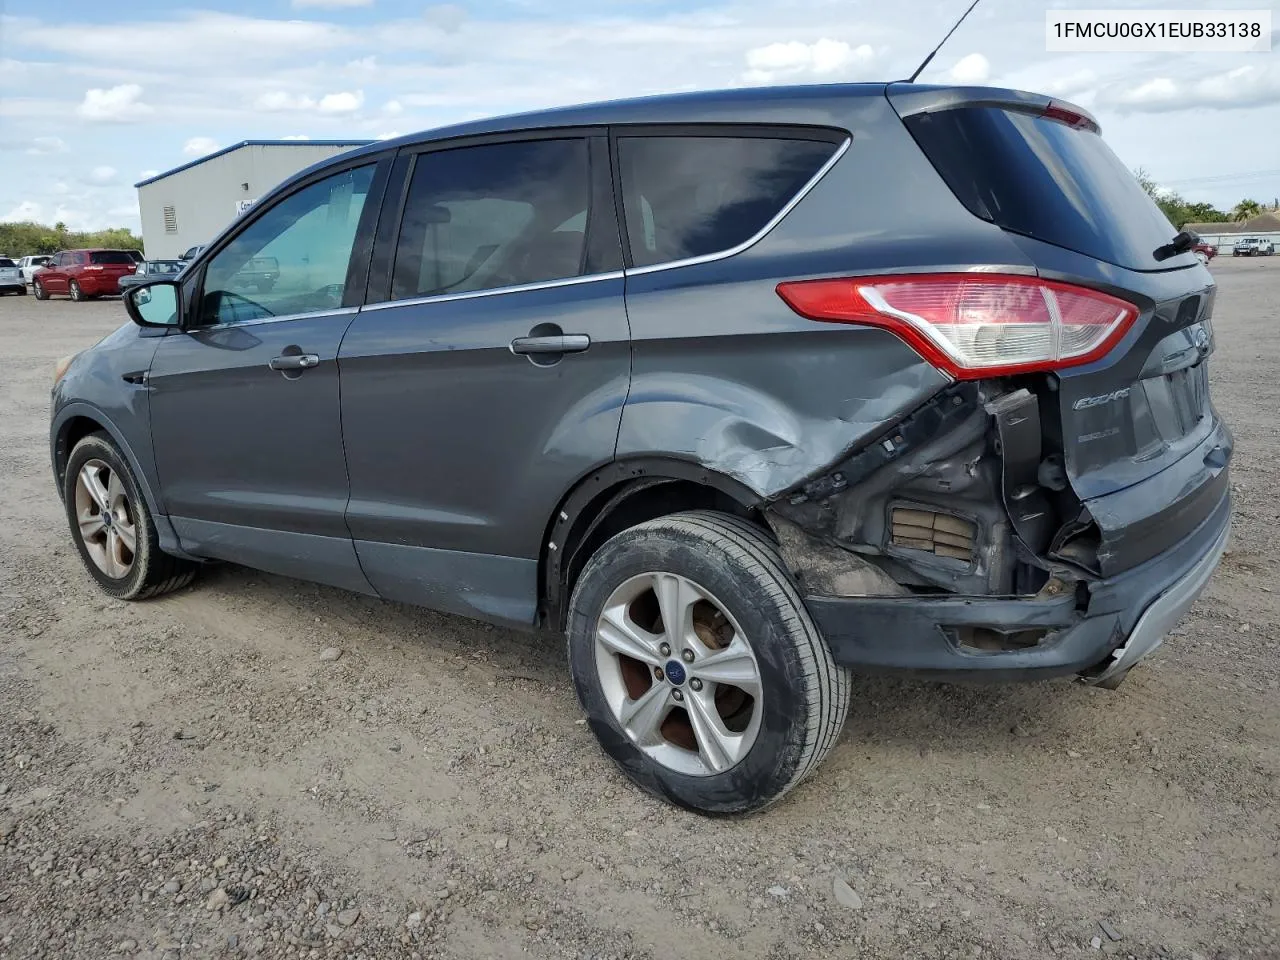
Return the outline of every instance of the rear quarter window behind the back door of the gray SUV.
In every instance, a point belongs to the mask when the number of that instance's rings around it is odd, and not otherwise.
[[[620,137],[631,261],[707,256],[749,241],[837,145],[769,137]]]

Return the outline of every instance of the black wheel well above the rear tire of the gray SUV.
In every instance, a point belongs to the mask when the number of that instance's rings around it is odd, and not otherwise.
[[[689,509],[714,509],[760,522],[759,500],[736,481],[694,465],[613,463],[584,479],[564,498],[543,540],[539,562],[543,626],[564,628],[568,598],[582,567],[616,534]],[[763,522],[762,526],[768,530]]]

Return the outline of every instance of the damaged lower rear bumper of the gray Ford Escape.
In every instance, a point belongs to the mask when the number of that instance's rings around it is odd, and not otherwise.
[[[1155,650],[1187,612],[1226,548],[1231,502],[1224,490],[1210,516],[1148,562],[1050,599],[808,596],[805,607],[837,663],[865,672],[937,678],[1034,680],[1123,673]],[[961,645],[970,627],[997,634],[1044,631],[1034,646]]]

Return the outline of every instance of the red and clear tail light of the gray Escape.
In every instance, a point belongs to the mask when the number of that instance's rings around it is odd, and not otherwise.
[[[1098,291],[997,274],[797,280],[778,296],[810,320],[891,330],[959,380],[1091,364],[1138,316]]]

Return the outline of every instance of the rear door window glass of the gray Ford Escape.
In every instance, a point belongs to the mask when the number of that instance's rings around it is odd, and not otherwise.
[[[420,155],[396,246],[392,300],[581,275],[589,195],[585,140]]]

